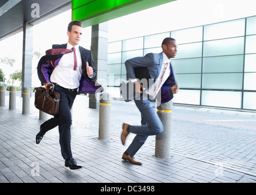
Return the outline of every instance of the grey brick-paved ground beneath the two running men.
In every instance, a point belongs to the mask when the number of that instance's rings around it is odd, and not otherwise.
[[[33,94],[34,96],[34,94]],[[73,157],[84,168],[64,166],[58,128],[40,144],[39,111],[22,114],[17,94],[15,110],[0,107],[0,183],[255,183],[256,113],[173,106],[171,158],[154,157],[155,137],[149,137],[135,158],[142,166],[121,159],[134,138],[122,146],[122,122],[140,124],[134,102],[111,103],[111,140],[98,140],[99,109],[88,108],[87,96],[73,106]],[[49,116],[50,117],[50,116]]]

